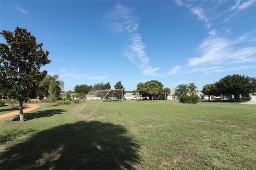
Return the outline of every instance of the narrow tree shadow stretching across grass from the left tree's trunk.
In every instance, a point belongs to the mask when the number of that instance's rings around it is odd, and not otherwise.
[[[63,110],[63,109],[51,109],[51,110],[46,110],[46,111],[37,111],[35,113],[25,113],[24,117],[25,117],[25,121],[28,121],[28,120],[33,120],[34,118],[50,117],[55,114],[62,114],[63,112],[65,112],[65,110]],[[12,119],[12,121],[19,121],[19,120],[20,120],[19,115],[15,116]]]

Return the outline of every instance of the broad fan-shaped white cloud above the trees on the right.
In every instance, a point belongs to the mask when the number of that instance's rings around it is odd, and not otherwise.
[[[255,62],[256,46],[235,47],[240,41],[209,37],[197,48],[199,57],[190,58],[189,66]]]

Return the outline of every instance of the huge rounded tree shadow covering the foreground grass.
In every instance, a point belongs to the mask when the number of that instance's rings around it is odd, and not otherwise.
[[[0,155],[1,169],[135,169],[139,145],[122,125],[77,122],[41,131]]]

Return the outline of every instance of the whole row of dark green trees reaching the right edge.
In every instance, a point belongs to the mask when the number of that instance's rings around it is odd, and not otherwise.
[[[219,81],[206,84],[203,87],[204,95],[210,96],[234,95],[235,101],[240,100],[240,95],[249,97],[256,92],[256,78],[247,75],[227,75]]]

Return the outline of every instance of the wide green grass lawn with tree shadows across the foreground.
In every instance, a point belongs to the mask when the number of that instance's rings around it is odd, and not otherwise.
[[[125,101],[92,120],[42,105],[0,120],[3,169],[256,169],[256,107]]]

